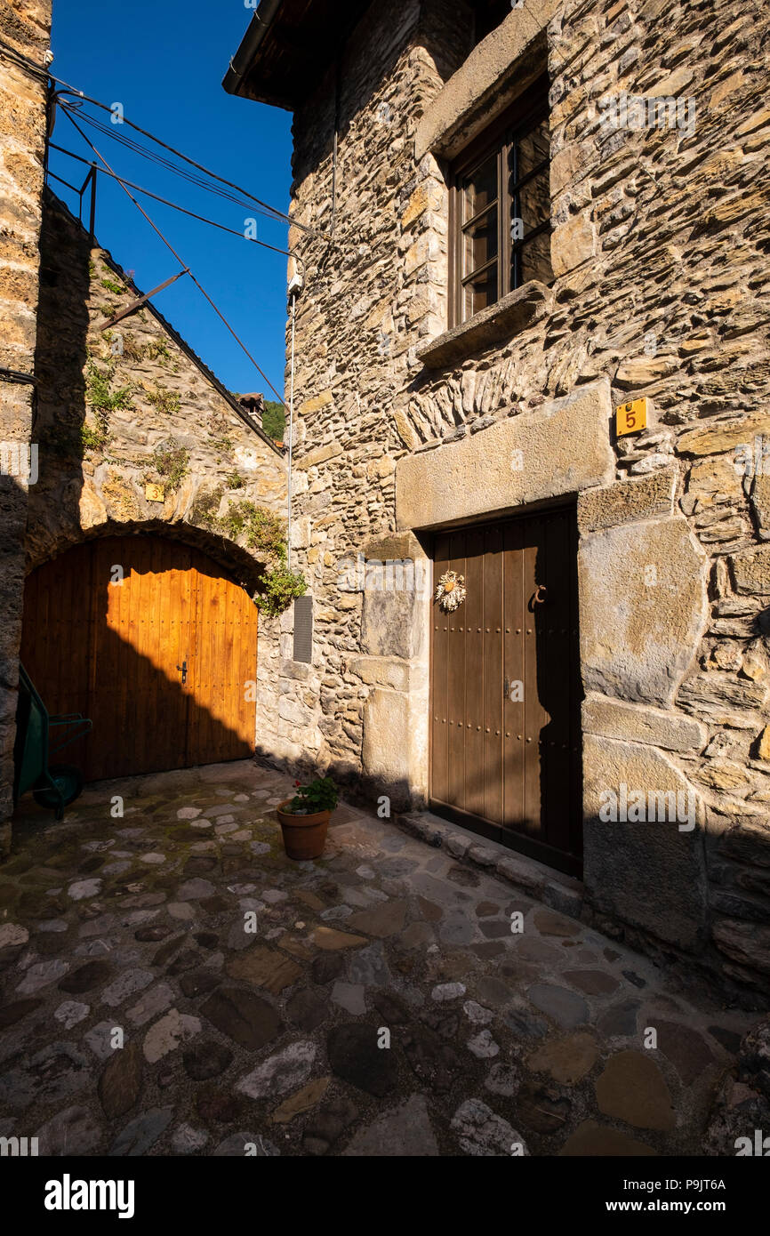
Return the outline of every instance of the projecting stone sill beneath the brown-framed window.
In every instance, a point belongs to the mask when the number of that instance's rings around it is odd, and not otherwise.
[[[550,303],[550,288],[531,279],[488,309],[482,309],[468,321],[423,344],[417,350],[418,360],[426,370],[447,368],[456,361],[463,361],[471,353],[509,340],[512,335],[531,326],[548,311]]]

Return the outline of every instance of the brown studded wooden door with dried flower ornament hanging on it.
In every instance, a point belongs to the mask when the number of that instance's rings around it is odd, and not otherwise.
[[[578,874],[582,854],[575,508],[436,535],[431,808]]]

